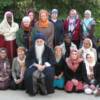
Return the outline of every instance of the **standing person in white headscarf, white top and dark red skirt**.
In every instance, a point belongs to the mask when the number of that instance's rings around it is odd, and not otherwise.
[[[7,49],[7,55],[12,63],[13,57],[16,56],[16,32],[19,26],[14,22],[13,13],[7,11],[4,15],[4,19],[0,24],[0,33],[5,39],[5,48]]]

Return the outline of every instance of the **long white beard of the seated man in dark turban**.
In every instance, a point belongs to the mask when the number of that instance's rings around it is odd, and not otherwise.
[[[39,64],[42,64],[43,51],[44,51],[44,45],[42,45],[42,46],[35,45],[36,58],[37,58]]]

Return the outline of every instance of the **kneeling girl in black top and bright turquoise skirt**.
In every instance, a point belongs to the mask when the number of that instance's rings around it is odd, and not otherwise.
[[[55,76],[54,76],[54,87],[58,89],[64,88],[63,68],[64,58],[62,56],[62,49],[60,46],[55,47]]]

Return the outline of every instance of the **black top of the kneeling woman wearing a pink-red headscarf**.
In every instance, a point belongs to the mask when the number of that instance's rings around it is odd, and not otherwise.
[[[66,63],[64,67],[64,77],[65,77],[65,82],[70,81],[72,79],[76,79],[78,81],[89,83],[84,62],[81,62],[79,64],[79,67],[77,68],[76,72],[73,72]]]

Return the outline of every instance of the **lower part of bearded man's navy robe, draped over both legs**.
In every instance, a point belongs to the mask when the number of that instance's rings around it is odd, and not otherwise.
[[[25,88],[26,88],[26,92],[29,94],[33,94],[34,95],[34,91],[33,91],[33,72],[36,71],[37,68],[36,67],[31,67],[28,68],[25,72]],[[43,73],[45,75],[45,84],[46,84],[46,88],[47,88],[47,93],[54,93],[54,87],[53,87],[53,80],[54,80],[54,68],[53,67],[47,67],[43,70]]]

